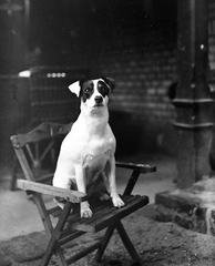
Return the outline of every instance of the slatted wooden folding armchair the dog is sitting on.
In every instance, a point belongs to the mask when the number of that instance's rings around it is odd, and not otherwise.
[[[25,176],[25,180],[18,180],[17,185],[19,188],[33,196],[45,232],[50,237],[41,265],[48,265],[52,255],[57,256],[59,265],[70,265],[95,249],[96,253],[94,258],[96,262],[99,262],[102,258],[114,229],[117,231],[132,259],[142,265],[141,257],[131,243],[126,231],[121,223],[121,219],[149,203],[147,196],[134,196],[131,195],[131,193],[140,174],[155,172],[156,167],[142,164],[116,163],[116,166],[119,167],[132,170],[131,177],[122,195],[125,206],[121,208],[113,207],[111,200],[103,202],[96,198],[88,198],[88,196],[83,193],[54,187],[50,185],[53,177],[52,174],[41,176],[40,178],[35,180],[23,151],[24,147],[29,143],[38,143],[48,139],[58,139],[59,135],[62,136],[62,134],[66,134],[70,131],[70,127],[71,124],[62,125],[59,123],[44,122],[28,134],[11,136],[14,152]],[[44,204],[42,194],[60,196],[64,198],[64,208],[60,209],[58,206],[48,208]],[[85,201],[86,198],[90,202],[93,212],[93,216],[88,219],[81,218],[79,212],[79,203]],[[71,208],[73,208],[72,214]],[[55,217],[58,222],[54,224],[51,217]],[[63,245],[85,233],[98,233],[104,228],[106,228],[106,232],[102,241],[99,241],[96,244],[93,244],[73,257],[65,259]]]

